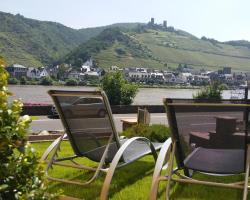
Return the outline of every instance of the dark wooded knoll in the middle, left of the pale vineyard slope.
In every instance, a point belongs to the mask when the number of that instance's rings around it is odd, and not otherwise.
[[[120,28],[107,28],[98,36],[77,47],[66,56],[63,62],[81,66],[90,57],[110,50],[113,51],[116,58],[129,56],[138,59],[149,59],[152,57],[151,51],[127,32],[121,31]],[[112,55],[108,57],[112,57]],[[96,61],[101,60],[96,59]]]

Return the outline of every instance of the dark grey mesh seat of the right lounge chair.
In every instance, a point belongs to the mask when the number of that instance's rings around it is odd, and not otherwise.
[[[239,174],[244,172],[243,149],[195,149],[185,160],[186,168],[214,174]]]

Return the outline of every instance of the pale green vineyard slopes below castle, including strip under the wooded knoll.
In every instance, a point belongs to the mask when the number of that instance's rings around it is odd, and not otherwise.
[[[180,35],[155,30],[148,30],[147,33],[133,36],[152,51],[156,60],[140,59],[129,55],[119,57],[114,51],[116,46],[101,51],[94,58],[104,67],[137,65],[163,68],[164,63],[173,67],[179,63],[186,63],[197,68],[205,66],[212,70],[223,66],[230,66],[236,71],[249,71],[250,69],[250,49],[247,47],[223,43],[212,44],[188,34]]]

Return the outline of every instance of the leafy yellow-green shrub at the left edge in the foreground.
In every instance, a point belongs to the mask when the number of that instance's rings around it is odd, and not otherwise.
[[[19,100],[8,103],[7,80],[0,66],[0,199],[52,199],[46,193],[39,157],[26,140],[31,120],[20,117]]]

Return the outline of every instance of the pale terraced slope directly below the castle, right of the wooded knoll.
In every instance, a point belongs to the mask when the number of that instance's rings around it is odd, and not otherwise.
[[[139,34],[137,37],[163,62],[187,63],[198,67],[205,65],[210,68],[231,66],[235,70],[249,69],[250,50],[246,47],[233,47],[221,43],[213,45],[209,41],[180,36],[171,32],[157,31],[157,33],[150,31]]]

